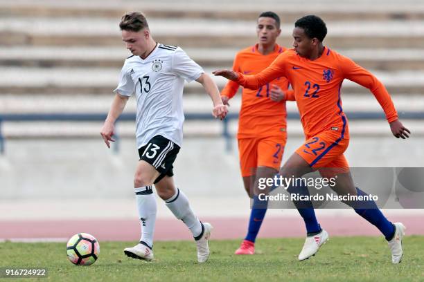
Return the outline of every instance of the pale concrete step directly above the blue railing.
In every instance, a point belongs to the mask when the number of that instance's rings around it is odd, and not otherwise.
[[[19,113],[107,113],[113,99],[112,93],[109,95],[0,95],[1,114]],[[391,95],[396,109],[399,113],[403,111],[423,111],[424,95],[398,94]],[[362,95],[359,93],[342,94],[343,109],[347,112],[358,111],[381,111],[376,98],[369,93]],[[241,105],[241,95],[237,94],[230,100],[229,111],[238,113]],[[212,109],[212,102],[206,93],[184,96],[184,111],[186,113],[209,113]],[[294,102],[287,103],[287,109],[291,113],[297,112]],[[136,111],[136,100],[134,97],[128,100],[125,106],[125,113]]]

